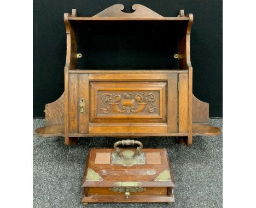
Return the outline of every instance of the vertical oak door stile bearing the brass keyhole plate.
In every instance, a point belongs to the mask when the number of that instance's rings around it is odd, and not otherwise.
[[[83,113],[78,112],[78,132],[88,133],[89,132],[89,75],[79,74],[79,97],[85,99],[85,110]],[[79,109],[78,109],[79,110]]]

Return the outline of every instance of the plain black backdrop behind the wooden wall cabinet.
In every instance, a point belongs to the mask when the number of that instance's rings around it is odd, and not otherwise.
[[[180,9],[184,9],[185,14],[194,15],[190,36],[193,93],[198,99],[210,103],[210,117],[222,117],[222,1],[220,0],[34,0],[33,117],[44,117],[45,104],[58,99],[64,90],[66,29],[63,14],[71,14],[72,9],[77,9],[78,16],[94,16],[117,3],[123,4],[124,11],[129,13],[132,11],[131,6],[139,3],[165,17],[177,16]],[[101,27],[92,25],[90,28],[90,33],[86,33],[88,30],[79,31],[80,36],[84,33],[89,34],[86,39],[78,39],[79,44],[82,46],[91,44],[94,47],[90,53],[86,51],[88,50],[86,47],[78,48],[78,52],[84,54],[84,59],[78,60],[78,69],[178,68],[177,60],[172,59],[173,53],[177,50],[175,45],[177,36],[172,32],[171,28],[174,27],[171,25],[163,28],[160,25],[142,27],[126,23],[118,26],[118,29],[106,24]],[[141,35],[137,35],[138,31]],[[113,36],[117,32],[119,38]],[[144,38],[147,37],[143,35],[144,33],[148,34],[148,38]],[[126,39],[125,35],[130,39]],[[124,40],[131,42],[122,44]],[[142,44],[134,45],[136,41]]]

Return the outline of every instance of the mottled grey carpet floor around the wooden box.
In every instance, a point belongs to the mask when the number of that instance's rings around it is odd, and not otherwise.
[[[222,127],[222,119],[211,119]],[[44,119],[33,120],[34,129]],[[81,138],[77,147],[66,147],[61,137],[33,135],[34,207],[222,207],[222,134],[194,137],[193,146],[175,138],[140,138],[144,148],[166,148],[176,187],[175,202],[139,204],[80,204],[82,177],[89,148],[112,148],[117,138]],[[25,168],[25,167],[24,167]]]

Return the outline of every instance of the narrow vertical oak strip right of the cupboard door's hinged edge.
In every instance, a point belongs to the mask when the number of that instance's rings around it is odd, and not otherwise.
[[[188,132],[188,74],[179,74],[179,133]]]

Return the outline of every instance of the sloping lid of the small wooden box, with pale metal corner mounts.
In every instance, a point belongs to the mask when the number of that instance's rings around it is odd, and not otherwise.
[[[135,151],[121,149],[121,159],[115,149],[90,149],[83,187],[174,187],[165,149],[142,149],[134,160]]]

